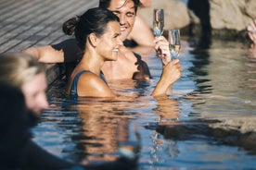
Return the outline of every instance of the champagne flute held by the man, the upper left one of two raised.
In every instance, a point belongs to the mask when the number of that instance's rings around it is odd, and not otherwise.
[[[153,13],[153,32],[155,36],[161,36],[164,27],[163,9],[154,9]]]

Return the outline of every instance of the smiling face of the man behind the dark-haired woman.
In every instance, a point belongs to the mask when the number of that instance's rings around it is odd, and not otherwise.
[[[132,0],[111,0],[108,9],[120,19],[121,40],[124,41],[134,27],[134,2]]]

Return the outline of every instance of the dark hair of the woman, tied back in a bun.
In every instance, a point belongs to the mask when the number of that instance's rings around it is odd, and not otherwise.
[[[84,50],[88,35],[93,32],[96,36],[103,35],[110,21],[119,22],[119,18],[108,9],[95,7],[87,10],[82,16],[70,18],[64,22],[62,29],[67,35],[74,34],[79,46]]]

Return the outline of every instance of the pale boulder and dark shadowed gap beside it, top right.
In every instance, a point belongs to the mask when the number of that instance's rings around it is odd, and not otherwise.
[[[184,32],[211,31],[212,37],[224,40],[248,40],[246,27],[251,18],[256,18],[253,0],[189,0],[187,7],[190,24]]]

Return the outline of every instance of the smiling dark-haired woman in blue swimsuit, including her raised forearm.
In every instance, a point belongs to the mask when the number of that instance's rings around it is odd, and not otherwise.
[[[123,58],[126,59],[120,50],[123,46],[120,39],[122,34],[120,27],[122,26],[119,25],[119,18],[108,9],[92,8],[80,17],[71,18],[66,24],[67,29],[65,30],[70,33],[74,31],[80,48],[84,50],[80,63],[70,75],[67,93],[72,97],[114,98],[115,94],[110,90],[101,69],[103,65],[106,66],[105,63],[107,62],[111,67],[112,61],[120,62]],[[136,61],[134,63],[139,65]],[[169,63],[164,63],[162,60],[162,65],[164,67],[160,80],[151,93],[153,96],[166,94],[181,76],[179,60],[173,60]],[[135,69],[137,69],[134,70],[135,72],[147,74],[143,73],[140,68]]]

